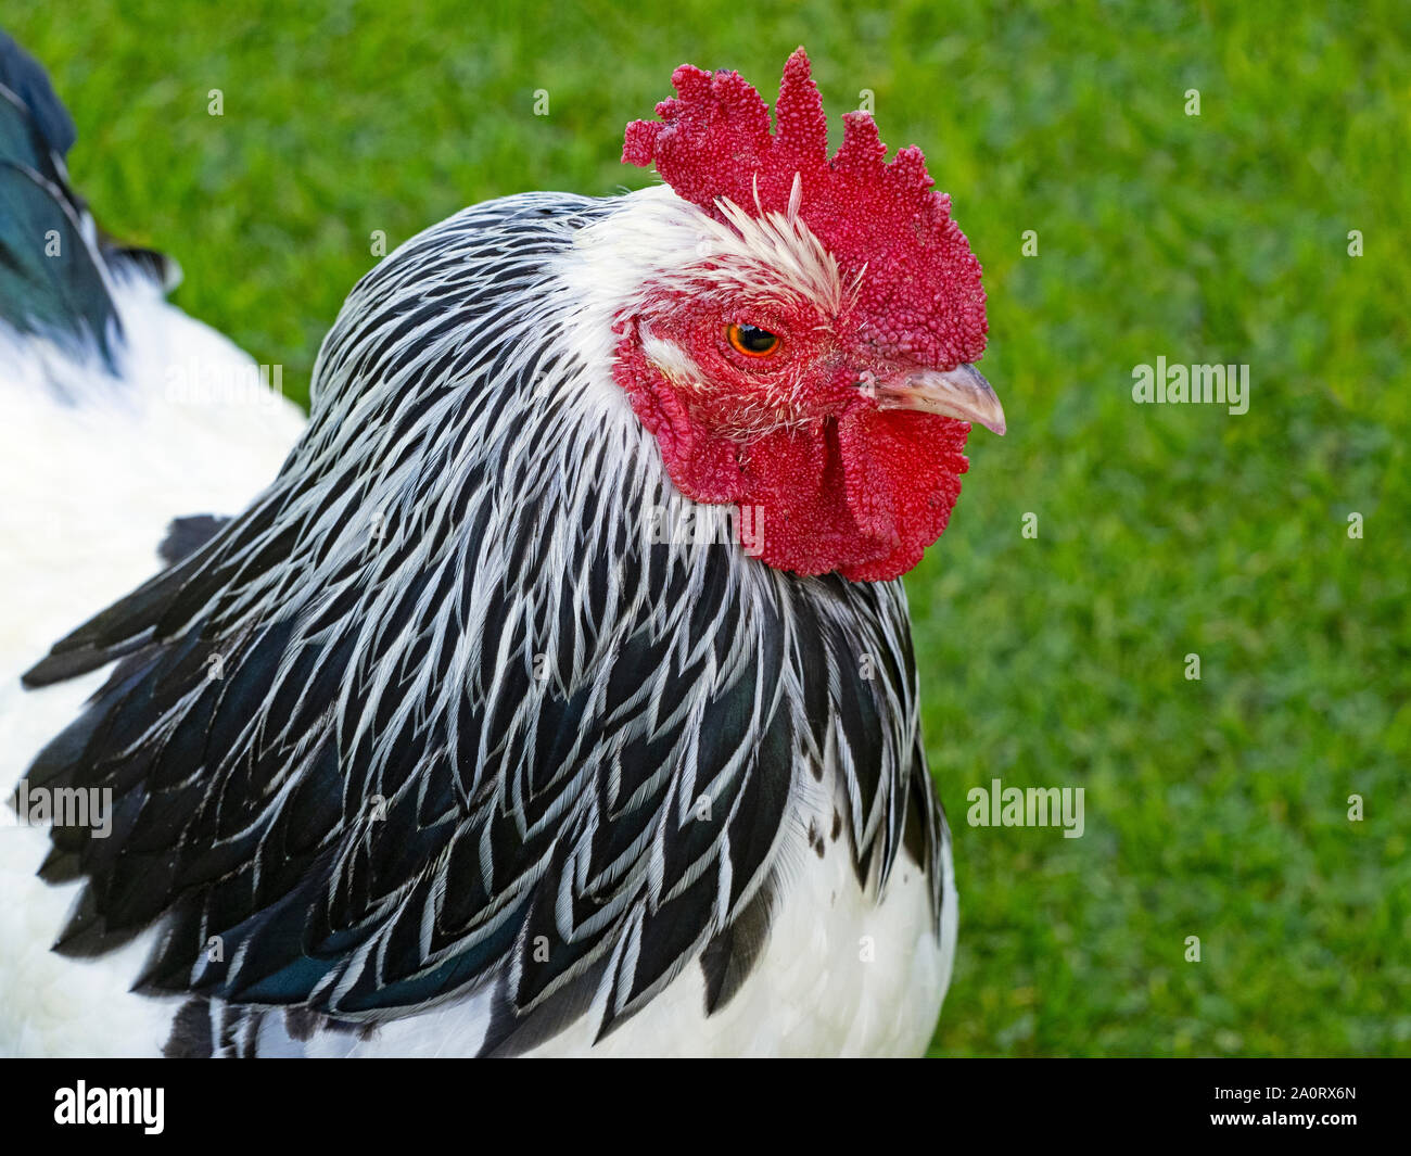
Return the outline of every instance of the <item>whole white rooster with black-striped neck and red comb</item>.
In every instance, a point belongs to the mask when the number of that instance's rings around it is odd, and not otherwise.
[[[849,113],[830,157],[801,48],[773,124],[683,65],[626,128],[662,183],[409,240],[303,425],[174,401],[251,363],[0,69],[0,1049],[924,1050],[957,893],[900,576],[1005,419],[921,152]]]

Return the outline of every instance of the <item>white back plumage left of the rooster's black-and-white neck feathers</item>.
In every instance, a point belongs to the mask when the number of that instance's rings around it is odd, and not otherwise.
[[[219,387],[255,377],[255,364],[168,305],[152,282],[120,284],[114,299],[126,333],[121,381],[96,360],[73,360],[0,325],[6,795],[104,678],[25,692],[20,675],[159,569],[157,546],[172,518],[243,510],[305,423],[299,407],[274,394],[181,388],[193,366]],[[13,817],[6,807],[4,819]],[[145,943],[96,960],[49,950],[78,885],[35,875],[48,843],[44,829],[0,827],[0,1054],[159,1054],[172,1001],[128,994]]]

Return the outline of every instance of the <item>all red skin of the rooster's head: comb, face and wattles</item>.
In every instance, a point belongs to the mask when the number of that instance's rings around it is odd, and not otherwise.
[[[885,162],[872,119],[849,113],[842,147],[827,155],[803,49],[785,66],[775,133],[738,73],[683,65],[672,80],[679,97],[658,106],[659,121],[628,126],[624,161],[655,164],[717,220],[722,199],[785,213],[797,182],[799,219],[849,292],[830,316],[821,303],[732,299],[708,279],[698,292],[648,287],[642,311],[618,319],[614,375],[683,494],[763,510],[761,560],[799,574],[897,577],[945,529],[969,425],[882,409],[864,383],[979,359],[979,263],[919,150]],[[776,333],[779,347],[738,353],[725,336],[731,323]],[[653,366],[648,335],[687,353],[694,380]]]

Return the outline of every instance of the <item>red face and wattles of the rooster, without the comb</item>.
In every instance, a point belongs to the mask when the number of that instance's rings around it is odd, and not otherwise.
[[[762,357],[738,353],[727,339],[732,320],[779,335],[779,346]],[[619,325],[615,377],[683,494],[763,511],[751,522],[762,562],[799,574],[893,579],[945,529],[968,466],[969,425],[879,409],[862,388],[865,374],[882,380],[920,366],[861,347],[840,332],[845,325],[821,329],[817,316],[758,309],[737,316],[710,295],[663,295],[659,309]],[[643,329],[689,353],[703,387],[650,364]]]

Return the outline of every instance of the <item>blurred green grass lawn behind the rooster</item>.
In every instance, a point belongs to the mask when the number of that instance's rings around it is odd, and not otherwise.
[[[374,230],[645,183],[622,126],[683,61],[772,99],[806,44],[835,138],[871,89],[985,265],[1010,419],[907,580],[962,901],[933,1050],[1411,1053],[1404,3],[0,16],[73,112],[100,220],[301,395]],[[1247,363],[1249,412],[1134,405],[1161,354]],[[968,827],[992,778],[1085,788],[1085,836]]]

